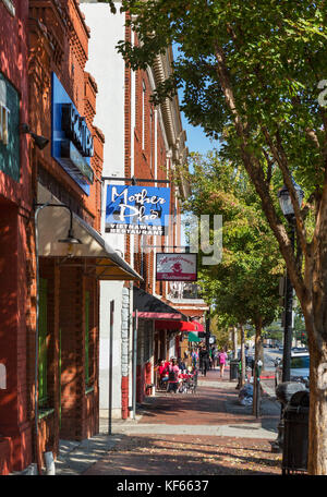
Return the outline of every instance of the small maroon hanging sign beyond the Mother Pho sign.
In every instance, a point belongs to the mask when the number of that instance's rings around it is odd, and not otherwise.
[[[158,281],[196,281],[197,254],[157,254]]]

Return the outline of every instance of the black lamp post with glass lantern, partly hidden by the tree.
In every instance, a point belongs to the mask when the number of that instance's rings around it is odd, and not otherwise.
[[[299,206],[301,207],[304,192],[293,181],[293,186],[298,197]],[[291,201],[290,192],[287,186],[283,185],[278,192],[278,199],[281,211],[286,217],[290,228],[290,240],[292,251],[294,252],[295,245],[295,216],[294,208]],[[292,331],[293,331],[293,287],[290,277],[286,275],[284,279],[284,319],[283,319],[283,352],[282,352],[282,383],[290,381],[291,379],[291,349],[292,349]],[[280,452],[283,445],[283,404],[280,409],[280,421],[278,425],[278,437],[271,443],[271,450],[274,452]]]

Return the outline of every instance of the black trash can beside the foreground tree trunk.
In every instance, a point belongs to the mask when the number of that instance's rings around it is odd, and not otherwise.
[[[282,473],[307,471],[308,391],[298,391],[283,412]]]

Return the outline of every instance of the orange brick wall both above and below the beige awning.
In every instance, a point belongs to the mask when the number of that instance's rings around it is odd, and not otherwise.
[[[76,0],[29,2],[29,101],[31,128],[51,136],[51,72],[59,77],[94,137],[90,165],[95,182],[89,195],[84,194],[72,178],[51,157],[51,147],[33,148],[34,195],[37,181],[60,202],[84,218],[96,230],[100,229],[101,177],[105,137],[93,126],[96,112],[97,85],[85,72],[89,29]],[[33,245],[33,242],[32,242]],[[35,252],[31,248],[31,302],[35,295]],[[49,403],[55,412],[40,421],[40,451],[57,453],[59,433],[66,439],[83,439],[98,432],[98,282],[84,275],[84,260],[74,259],[72,267],[59,267],[56,259],[43,260],[40,275],[53,281],[48,294],[51,338],[49,355]],[[51,267],[52,276],[47,272]],[[83,269],[84,267],[84,269]],[[52,279],[51,279],[52,278]],[[51,287],[52,288],[52,287]],[[89,385],[85,381],[85,292],[89,304]],[[28,315],[33,331],[33,308]],[[33,337],[33,335],[32,335]],[[33,338],[32,338],[33,342]],[[31,343],[33,344],[33,343]],[[31,359],[33,357],[31,347]],[[50,379],[51,377],[51,379]],[[34,385],[33,374],[29,374]],[[60,385],[61,383],[61,385]],[[88,388],[92,386],[92,388]],[[31,401],[33,415],[33,401]]]

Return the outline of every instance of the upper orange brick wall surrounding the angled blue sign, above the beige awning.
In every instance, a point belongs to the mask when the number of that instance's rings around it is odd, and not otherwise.
[[[51,136],[50,78],[53,71],[75,104],[80,114],[86,118],[87,125],[94,136],[95,155],[90,163],[95,172],[95,182],[90,186],[89,196],[85,195],[61,166],[51,158],[50,147],[36,150],[37,162],[65,189],[72,199],[81,204],[82,217],[87,219],[87,222],[90,222],[92,219],[90,223],[99,229],[99,178],[102,169],[105,138],[100,130],[93,126],[97,85],[92,75],[85,72],[89,39],[88,28],[75,0],[61,1],[61,3],[49,1],[46,5],[32,0],[29,5],[31,128],[44,136]],[[46,32],[35,20],[45,24]],[[73,202],[72,205],[74,205]]]

